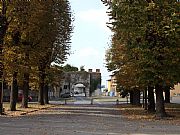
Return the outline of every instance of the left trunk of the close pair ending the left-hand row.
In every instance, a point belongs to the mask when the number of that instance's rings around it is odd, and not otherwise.
[[[38,102],[40,105],[44,105],[44,80],[45,80],[45,68],[43,64],[39,66],[39,98]]]

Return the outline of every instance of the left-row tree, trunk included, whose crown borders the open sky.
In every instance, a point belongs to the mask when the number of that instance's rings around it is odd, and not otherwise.
[[[44,12],[41,16],[43,17],[41,29],[36,33],[37,36],[42,37],[39,43],[41,48],[38,49],[37,46],[37,54],[40,55],[36,59],[38,58],[37,65],[40,79],[39,103],[44,104],[43,88],[46,69],[52,62],[62,64],[66,60],[72,32],[72,16],[68,1],[56,0],[48,1],[48,3],[40,2],[40,4],[44,6],[42,7]]]

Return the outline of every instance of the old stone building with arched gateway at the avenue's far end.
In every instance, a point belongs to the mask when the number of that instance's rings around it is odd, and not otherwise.
[[[96,69],[95,72],[89,69],[88,71],[65,72],[60,87],[54,90],[53,96],[61,97],[64,93],[70,93],[73,96],[91,96],[99,95],[100,92],[100,69]]]

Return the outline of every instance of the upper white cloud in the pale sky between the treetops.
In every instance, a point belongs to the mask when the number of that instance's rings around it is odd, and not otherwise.
[[[80,19],[80,21],[97,25],[105,31],[110,31],[106,26],[106,23],[109,21],[109,17],[106,13],[106,9],[104,8],[80,11],[77,14],[77,18]]]

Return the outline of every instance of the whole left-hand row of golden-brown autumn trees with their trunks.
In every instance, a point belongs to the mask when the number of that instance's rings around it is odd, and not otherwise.
[[[70,53],[72,21],[68,0],[0,1],[0,88],[3,81],[11,85],[12,111],[18,87],[23,89],[22,107],[28,107],[29,87],[39,88],[41,105],[48,103],[44,88],[53,82],[50,72],[59,72],[51,64],[62,64]]]

